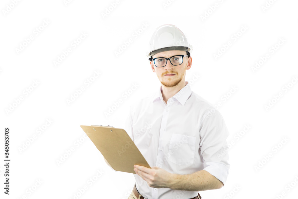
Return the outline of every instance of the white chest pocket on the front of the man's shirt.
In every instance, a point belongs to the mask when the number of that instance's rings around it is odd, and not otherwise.
[[[193,164],[195,158],[195,137],[173,133],[169,145],[168,161],[187,165]]]

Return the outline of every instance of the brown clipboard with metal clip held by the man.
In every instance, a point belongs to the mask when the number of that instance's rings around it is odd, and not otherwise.
[[[136,174],[135,164],[151,169],[124,129],[102,125],[80,127],[114,170]]]

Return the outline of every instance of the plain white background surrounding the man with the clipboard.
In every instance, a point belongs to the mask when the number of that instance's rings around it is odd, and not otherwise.
[[[133,175],[110,169],[80,125],[124,128],[128,107],[159,89],[145,55],[162,24],[179,27],[193,45],[186,81],[199,75],[193,92],[214,105],[222,103],[218,110],[230,132],[227,141],[233,143],[225,186],[201,191],[202,198],[297,197],[297,1],[122,0],[113,9],[115,1],[12,2],[3,0],[0,6],[1,198],[75,198],[84,186],[88,189],[78,198],[128,198]],[[80,40],[82,33],[87,36]],[[130,38],[133,42],[116,56]],[[17,50],[21,45],[23,50]],[[72,51],[63,56],[68,48]],[[269,58],[253,70],[267,53]],[[94,71],[101,74],[92,78]],[[84,83],[90,79],[91,84]],[[137,89],[125,98],[133,84]],[[75,94],[82,86],[85,90]],[[230,95],[232,87],[237,90]],[[68,103],[72,95],[77,97]],[[106,116],[119,99],[122,103]],[[245,125],[249,130],[236,139]],[[10,129],[10,195],[3,193],[4,128]],[[40,134],[38,128],[44,128]],[[90,178],[96,179],[92,185]]]

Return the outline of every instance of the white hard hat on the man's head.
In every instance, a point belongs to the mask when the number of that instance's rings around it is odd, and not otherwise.
[[[173,24],[164,24],[156,28],[149,42],[147,57],[152,61],[153,55],[167,50],[183,50],[188,57],[193,50],[182,31]]]

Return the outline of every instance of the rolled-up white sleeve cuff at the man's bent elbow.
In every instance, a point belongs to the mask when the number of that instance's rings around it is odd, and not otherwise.
[[[205,168],[203,170],[209,172],[215,178],[220,180],[223,184],[226,183],[229,174],[230,165],[226,166],[217,162],[204,161]]]

